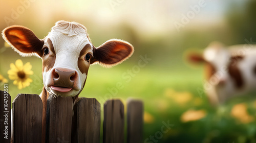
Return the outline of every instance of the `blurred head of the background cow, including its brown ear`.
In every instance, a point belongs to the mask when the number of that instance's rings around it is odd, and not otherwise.
[[[205,64],[204,89],[211,104],[225,102],[242,86],[242,77],[237,64],[241,56],[233,56],[219,42],[210,43],[203,54],[190,53],[189,61]]]

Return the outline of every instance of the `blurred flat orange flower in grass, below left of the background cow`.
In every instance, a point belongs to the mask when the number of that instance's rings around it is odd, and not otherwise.
[[[205,110],[188,110],[181,115],[182,122],[197,121],[204,118],[206,115]]]

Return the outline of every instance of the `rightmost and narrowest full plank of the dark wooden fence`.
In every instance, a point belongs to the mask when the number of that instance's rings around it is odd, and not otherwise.
[[[143,142],[143,102],[127,101],[127,143]]]

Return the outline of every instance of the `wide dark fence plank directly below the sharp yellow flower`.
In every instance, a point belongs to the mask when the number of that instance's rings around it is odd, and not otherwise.
[[[14,142],[41,142],[42,101],[37,94],[18,94],[12,103]]]

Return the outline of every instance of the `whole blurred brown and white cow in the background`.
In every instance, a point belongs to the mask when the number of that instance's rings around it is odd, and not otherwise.
[[[256,89],[256,45],[212,42],[203,54],[190,54],[189,60],[205,64],[204,90],[214,105]]]

